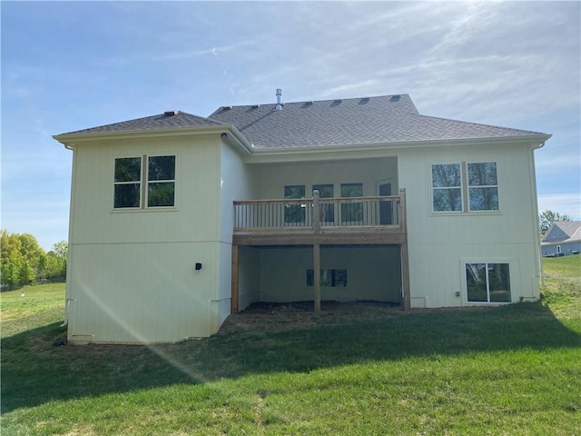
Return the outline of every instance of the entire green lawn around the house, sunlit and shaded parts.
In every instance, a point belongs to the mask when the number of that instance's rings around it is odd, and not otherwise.
[[[59,346],[63,285],[2,292],[2,434],[580,434],[581,256],[543,262],[538,303],[236,315],[156,347]]]

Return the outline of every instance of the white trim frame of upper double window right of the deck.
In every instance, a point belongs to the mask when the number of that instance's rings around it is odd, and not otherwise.
[[[491,209],[485,211],[473,211],[470,209],[470,194],[469,190],[469,182],[468,182],[468,164],[474,163],[495,163],[497,168],[497,184],[496,185],[486,185],[486,186],[474,186],[474,187],[496,187],[497,188],[497,198],[498,198],[498,209]],[[461,202],[462,208],[459,211],[436,211],[434,210],[434,189],[446,189],[446,188],[435,188],[434,181],[432,179],[432,167],[434,165],[447,165],[447,164],[457,164],[460,165],[460,190],[461,190]],[[428,201],[429,201],[429,214],[432,216],[441,216],[441,215],[478,215],[478,214],[499,214],[502,213],[500,208],[500,175],[499,175],[499,164],[498,161],[493,159],[479,159],[479,160],[471,160],[471,161],[446,161],[446,162],[431,162],[428,164],[428,179],[429,179],[429,193],[428,193]],[[449,188],[452,189],[452,188]],[[458,189],[458,188],[454,188]]]

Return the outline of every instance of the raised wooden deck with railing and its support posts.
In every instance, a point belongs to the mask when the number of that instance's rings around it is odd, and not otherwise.
[[[310,245],[313,271],[320,271],[321,245],[400,247],[401,305],[409,309],[409,259],[406,192],[376,197],[234,202],[231,253],[231,312],[239,310],[239,246]],[[320,277],[314,274],[314,310],[320,311]]]

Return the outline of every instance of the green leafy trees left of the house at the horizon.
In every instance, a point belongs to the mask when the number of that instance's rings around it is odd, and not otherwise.
[[[46,280],[65,280],[66,241],[55,243],[46,253],[32,234],[8,233],[3,229],[0,245],[0,283],[3,289]]]

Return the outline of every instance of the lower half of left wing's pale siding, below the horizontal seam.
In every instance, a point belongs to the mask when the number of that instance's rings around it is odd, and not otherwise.
[[[216,253],[216,243],[75,245],[69,340],[152,343],[209,336]],[[195,261],[203,263],[201,271],[193,270]]]

